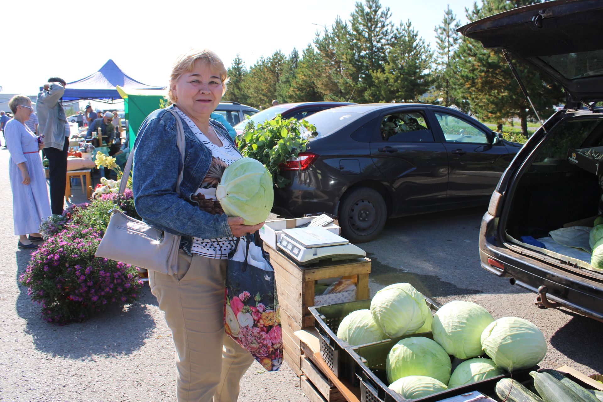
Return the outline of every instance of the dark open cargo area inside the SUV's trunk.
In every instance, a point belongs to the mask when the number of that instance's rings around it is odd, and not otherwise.
[[[531,250],[554,256],[566,268],[569,262],[589,269],[590,274],[598,272],[603,278],[603,269],[590,266],[588,241],[590,228],[603,206],[600,201],[603,184],[599,183],[603,172],[595,174],[595,163],[587,166],[581,160],[569,161],[572,152],[581,153],[576,148],[586,153],[582,148],[603,146],[603,115],[582,112],[566,115],[569,118],[555,125],[538,145],[530,165],[512,190],[503,231],[514,243],[528,244]],[[603,148],[601,151],[595,157],[602,160],[603,171]]]

